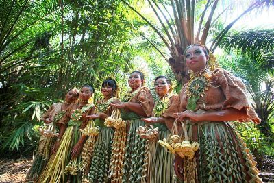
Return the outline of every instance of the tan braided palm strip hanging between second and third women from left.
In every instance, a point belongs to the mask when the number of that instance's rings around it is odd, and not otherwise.
[[[79,166],[80,171],[82,171],[82,182],[86,181],[85,179],[90,169],[90,163],[92,160],[92,152],[95,146],[95,141],[96,141],[96,136],[89,136],[82,150],[82,154],[81,154],[82,162]]]

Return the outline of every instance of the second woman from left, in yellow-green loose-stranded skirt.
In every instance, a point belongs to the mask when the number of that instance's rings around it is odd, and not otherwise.
[[[86,136],[81,136],[79,129],[87,124],[86,113],[93,107],[88,103],[94,93],[92,86],[85,84],[79,93],[77,103],[72,103],[58,125],[60,133],[53,146],[53,153],[39,182],[80,182],[79,154],[82,151]]]

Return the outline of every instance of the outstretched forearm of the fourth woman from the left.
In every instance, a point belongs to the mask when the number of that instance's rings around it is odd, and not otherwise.
[[[131,110],[132,112],[135,112],[136,114],[147,117],[147,114],[145,113],[145,110],[142,108],[140,103],[133,103],[133,102],[119,102],[119,103],[111,103],[110,105],[116,107],[116,108],[127,108]]]

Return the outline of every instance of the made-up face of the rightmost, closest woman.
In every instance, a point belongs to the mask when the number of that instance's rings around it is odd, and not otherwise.
[[[186,66],[193,72],[206,68],[208,56],[203,52],[203,47],[193,46],[186,51]]]

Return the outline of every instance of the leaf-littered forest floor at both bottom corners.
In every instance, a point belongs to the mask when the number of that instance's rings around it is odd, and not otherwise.
[[[265,156],[263,158],[264,166],[260,177],[264,182],[274,182],[274,159]],[[0,182],[16,183],[24,182],[27,170],[32,166],[32,159],[7,160],[0,159]]]

